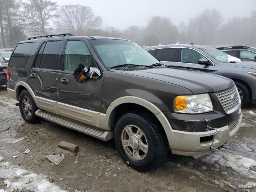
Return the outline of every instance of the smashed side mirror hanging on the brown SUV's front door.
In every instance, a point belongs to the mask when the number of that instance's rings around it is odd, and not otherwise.
[[[100,70],[95,67],[84,66],[84,64],[79,64],[73,73],[74,78],[78,83],[83,83],[87,78],[97,79],[101,76]]]

